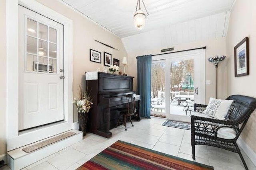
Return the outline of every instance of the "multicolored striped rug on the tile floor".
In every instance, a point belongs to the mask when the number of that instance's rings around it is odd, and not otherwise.
[[[212,166],[117,141],[77,170],[213,170]]]

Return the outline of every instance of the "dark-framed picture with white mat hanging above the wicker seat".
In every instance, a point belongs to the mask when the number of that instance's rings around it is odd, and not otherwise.
[[[245,37],[234,48],[235,77],[249,74],[249,40]]]

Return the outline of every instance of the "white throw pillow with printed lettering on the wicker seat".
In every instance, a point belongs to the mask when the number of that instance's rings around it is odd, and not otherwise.
[[[210,98],[209,104],[203,113],[216,119],[225,120],[228,117],[228,110],[232,103],[233,100]]]

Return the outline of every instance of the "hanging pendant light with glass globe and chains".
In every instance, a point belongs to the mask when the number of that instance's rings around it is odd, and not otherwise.
[[[146,12],[144,12],[143,10],[140,9],[140,0],[138,0],[137,6],[136,6],[136,12],[133,16],[134,24],[138,29],[143,29],[143,27],[145,26],[146,18],[149,15],[148,11],[146,9],[146,6],[144,4],[144,1],[143,0],[141,0],[141,1],[143,3],[143,6],[144,6]],[[138,8],[138,5],[139,5],[139,8]]]

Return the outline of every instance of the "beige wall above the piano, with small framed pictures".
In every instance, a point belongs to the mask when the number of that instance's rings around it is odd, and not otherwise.
[[[37,0],[38,2],[48,6],[52,10],[70,18],[73,21],[73,94],[78,97],[78,85],[84,81],[84,72],[96,71],[97,68],[103,69],[104,51],[112,54],[113,58],[122,62],[122,57],[127,56],[124,46],[120,38],[103,29],[96,23],[85,18],[78,12],[62,4],[58,0]],[[111,49],[102,45],[94,39],[108,44],[118,50]],[[102,53],[102,63],[90,61],[90,49],[94,49]],[[78,121],[76,109],[74,109],[74,121]]]

